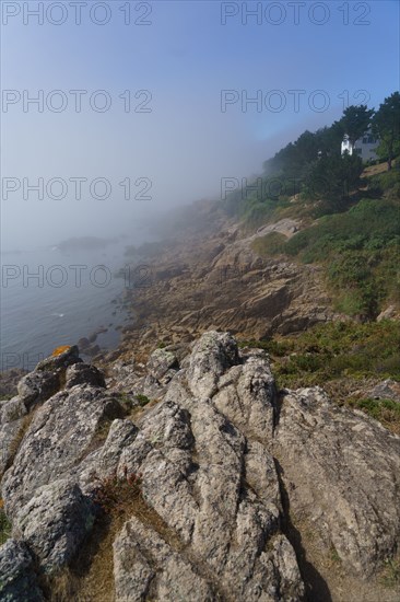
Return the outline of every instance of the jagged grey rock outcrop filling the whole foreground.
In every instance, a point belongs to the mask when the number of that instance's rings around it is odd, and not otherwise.
[[[45,398],[47,372],[59,391]],[[48,598],[43,584],[75,570],[105,516],[113,574],[98,591],[75,578],[66,600],[340,600],[334,582],[310,594],[294,517],[321,557],[336,551],[348,600],[367,600],[365,578],[380,595],[374,579],[400,534],[400,438],[375,420],[319,387],[278,395],[268,356],[215,331],[186,357],[116,362],[108,380],[75,351],[28,377],[1,406],[1,437],[25,420],[2,478],[13,539],[0,547],[1,600]]]

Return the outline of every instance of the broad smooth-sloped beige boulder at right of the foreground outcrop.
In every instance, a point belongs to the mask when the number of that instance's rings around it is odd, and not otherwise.
[[[293,512],[370,577],[399,542],[400,437],[313,387],[284,396],[273,449]]]

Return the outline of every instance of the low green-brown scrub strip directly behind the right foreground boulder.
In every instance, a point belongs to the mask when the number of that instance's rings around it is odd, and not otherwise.
[[[280,389],[323,385],[340,404],[356,407],[400,433],[400,404],[356,394],[385,379],[400,382],[400,323],[330,322],[296,336],[243,340],[264,349]]]

